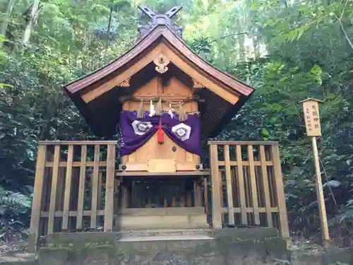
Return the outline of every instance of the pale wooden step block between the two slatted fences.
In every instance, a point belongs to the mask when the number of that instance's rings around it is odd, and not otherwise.
[[[114,216],[114,230],[208,229],[203,207],[123,208]]]

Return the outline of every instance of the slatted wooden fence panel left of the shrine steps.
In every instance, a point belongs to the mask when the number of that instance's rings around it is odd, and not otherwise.
[[[30,251],[40,235],[112,231],[116,141],[40,141],[30,222]]]

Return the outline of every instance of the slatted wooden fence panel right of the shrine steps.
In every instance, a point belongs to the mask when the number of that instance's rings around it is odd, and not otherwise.
[[[213,228],[254,225],[289,237],[277,142],[209,141]]]

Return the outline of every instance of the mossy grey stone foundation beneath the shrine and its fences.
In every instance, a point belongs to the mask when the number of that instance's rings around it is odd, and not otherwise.
[[[121,235],[115,232],[57,233],[48,235],[47,242],[40,248],[39,259],[0,261],[0,264],[281,265],[290,261],[292,265],[330,265],[340,261],[353,265],[353,251],[349,250],[289,254],[287,242],[277,237],[276,230],[268,228],[204,230],[203,240],[173,240],[165,238],[169,237],[166,235],[163,240],[163,232],[159,231],[149,234],[157,235],[159,240],[141,241],[140,233],[125,233],[124,237],[131,235],[133,238],[123,242]]]

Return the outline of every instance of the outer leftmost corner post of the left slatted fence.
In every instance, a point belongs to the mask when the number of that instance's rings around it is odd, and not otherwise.
[[[32,215],[30,218],[30,242],[28,243],[29,252],[35,252],[37,250],[46,150],[47,146],[44,145],[39,145],[37,148],[35,186],[32,201]]]

